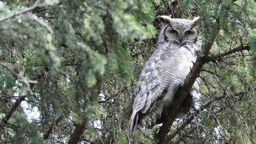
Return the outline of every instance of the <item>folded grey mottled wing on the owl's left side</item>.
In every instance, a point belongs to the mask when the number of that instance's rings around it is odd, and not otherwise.
[[[134,134],[138,127],[139,111],[142,114],[147,113],[156,103],[163,97],[167,87],[161,85],[161,67],[163,61],[159,60],[161,52],[153,54],[141,71],[137,89],[135,91],[136,97],[133,103],[133,113],[129,124],[129,132]]]

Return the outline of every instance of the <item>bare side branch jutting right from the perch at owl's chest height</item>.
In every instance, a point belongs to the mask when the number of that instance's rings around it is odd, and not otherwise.
[[[249,44],[244,44],[244,45],[236,47],[235,49],[231,49],[229,51],[226,51],[226,52],[223,52],[223,53],[220,53],[220,54],[211,55],[209,57],[205,56],[204,59],[207,62],[215,61],[215,60],[221,60],[226,55],[233,54],[233,53],[240,52],[240,51],[244,51],[244,50],[248,50],[249,51],[250,49],[251,49],[250,43]]]

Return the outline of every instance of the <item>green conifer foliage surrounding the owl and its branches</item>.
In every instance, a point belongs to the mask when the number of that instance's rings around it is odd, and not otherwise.
[[[0,142],[156,142],[159,126],[133,139],[126,128],[140,71],[157,49],[157,15],[199,15],[203,42],[220,18],[211,54],[250,44],[204,66],[202,103],[256,85],[252,0],[0,1]],[[173,141],[255,143],[255,103],[255,92],[215,101]]]

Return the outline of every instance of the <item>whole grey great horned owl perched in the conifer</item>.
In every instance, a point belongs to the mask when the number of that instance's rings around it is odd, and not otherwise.
[[[138,126],[144,131],[162,123],[165,110],[172,105],[175,92],[182,86],[197,58],[201,46],[196,30],[196,21],[172,19],[159,16],[162,29],[158,38],[158,49],[148,59],[142,69],[135,91],[133,113],[128,131],[134,134]],[[185,116],[192,105],[192,97],[199,98],[196,82],[188,93],[177,118]]]

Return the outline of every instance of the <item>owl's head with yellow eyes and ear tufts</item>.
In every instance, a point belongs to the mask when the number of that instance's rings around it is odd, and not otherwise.
[[[159,43],[177,42],[181,45],[196,41],[198,35],[196,30],[196,21],[199,17],[195,17],[193,20],[188,20],[172,19],[167,15],[161,15],[157,18],[163,23],[158,39]]]

